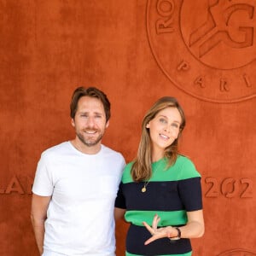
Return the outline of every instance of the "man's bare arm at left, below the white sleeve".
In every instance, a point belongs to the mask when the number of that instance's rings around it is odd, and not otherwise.
[[[44,221],[51,196],[32,195],[31,220],[40,255],[44,251]]]

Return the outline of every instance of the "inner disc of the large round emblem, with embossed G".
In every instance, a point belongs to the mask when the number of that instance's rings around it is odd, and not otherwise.
[[[198,60],[211,67],[247,65],[256,56],[254,5],[255,1],[221,0],[206,6],[195,19],[194,2],[185,1],[181,10],[185,44]],[[184,29],[188,26],[189,31]]]

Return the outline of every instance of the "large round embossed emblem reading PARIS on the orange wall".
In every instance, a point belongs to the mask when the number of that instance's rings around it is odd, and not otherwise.
[[[254,0],[148,0],[147,32],[159,67],[209,102],[256,96]]]

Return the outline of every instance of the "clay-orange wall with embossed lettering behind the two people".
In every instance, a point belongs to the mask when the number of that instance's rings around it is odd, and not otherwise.
[[[103,143],[127,161],[145,111],[176,96],[188,119],[181,151],[202,176],[194,255],[255,255],[256,3],[239,3],[0,0],[0,255],[38,255],[32,179],[41,152],[73,138],[78,85],[108,94]],[[117,224],[117,256],[126,228]]]

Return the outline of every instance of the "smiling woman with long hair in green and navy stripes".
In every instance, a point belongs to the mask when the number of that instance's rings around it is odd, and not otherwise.
[[[115,201],[115,218],[125,214],[131,223],[125,255],[192,255],[189,238],[203,235],[204,219],[201,176],[177,150],[183,109],[175,98],[162,97],[142,126],[137,158],[125,166]]]

